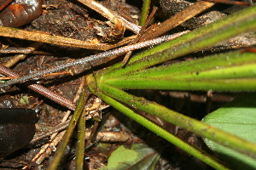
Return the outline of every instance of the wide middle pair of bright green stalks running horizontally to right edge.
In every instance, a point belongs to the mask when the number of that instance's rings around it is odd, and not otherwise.
[[[100,80],[125,89],[255,91],[256,57],[236,51]]]

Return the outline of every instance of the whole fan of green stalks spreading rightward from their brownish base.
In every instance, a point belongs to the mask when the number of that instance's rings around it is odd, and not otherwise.
[[[185,143],[154,122],[137,114],[137,110],[145,111],[166,122],[188,129],[214,143],[228,147],[230,150],[236,150],[237,153],[248,156],[250,159],[255,159],[256,141],[237,137],[227,133],[229,132],[227,129],[221,130],[209,126],[189,116],[183,116],[176,111],[169,110],[163,105],[124,91],[124,89],[255,91],[256,57],[254,53],[236,50],[173,65],[160,65],[167,60],[210,48],[230,37],[255,30],[256,6],[253,5],[222,20],[191,31],[182,37],[132,56],[125,66],[118,63],[97,72],[96,77],[92,74],[87,76],[90,91],[126,116],[131,117],[160,137],[176,144],[212,167],[228,168],[205,151]],[[255,107],[255,105],[250,107]],[[244,112],[242,111],[241,114]],[[252,116],[255,117],[255,114]],[[218,116],[212,119],[221,118],[222,116]],[[255,122],[253,123],[255,128]],[[240,128],[238,122],[235,124],[236,128]]]

